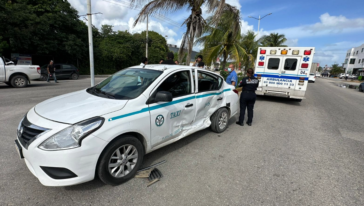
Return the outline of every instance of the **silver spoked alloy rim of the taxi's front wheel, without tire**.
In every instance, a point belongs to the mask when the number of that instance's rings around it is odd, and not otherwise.
[[[124,177],[134,169],[138,161],[138,150],[133,145],[118,148],[109,160],[108,168],[112,177]]]

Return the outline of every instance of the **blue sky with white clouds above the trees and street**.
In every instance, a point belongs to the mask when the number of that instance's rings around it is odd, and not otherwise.
[[[86,1],[68,0],[78,9],[80,15],[86,14]],[[128,0],[91,0],[92,23],[114,25],[115,30],[129,30],[131,33],[146,29],[141,23],[132,27],[138,11],[127,8]],[[272,0],[226,0],[241,11],[242,32],[248,29],[257,32],[258,18],[272,12],[260,21],[259,36],[270,32],[284,33],[287,45],[294,47],[315,47],[314,62],[321,65],[341,65],[346,51],[364,43],[364,1],[306,0],[306,1],[272,1]],[[124,6],[124,7],[123,7]],[[185,29],[178,27],[171,20],[181,24],[190,13],[178,11],[163,17],[149,19],[149,30],[154,30],[167,37],[169,44],[181,44]],[[203,17],[209,16],[203,9]],[[163,21],[162,21],[163,20]],[[194,50],[199,50],[195,47]]]

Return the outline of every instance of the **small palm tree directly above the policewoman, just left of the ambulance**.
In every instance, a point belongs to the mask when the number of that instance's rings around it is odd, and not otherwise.
[[[243,55],[242,64],[245,66],[245,71],[248,68],[254,68],[254,61],[257,58],[258,47],[262,39],[255,40],[256,34],[253,31],[248,31],[241,36],[240,47],[242,47],[246,54]]]

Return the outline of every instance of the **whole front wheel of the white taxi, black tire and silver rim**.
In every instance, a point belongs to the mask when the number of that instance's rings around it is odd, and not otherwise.
[[[121,136],[110,142],[101,153],[96,166],[98,177],[108,185],[120,185],[134,177],[143,155],[143,145],[136,137]]]

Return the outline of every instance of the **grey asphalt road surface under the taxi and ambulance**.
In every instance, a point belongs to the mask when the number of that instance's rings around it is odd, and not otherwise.
[[[309,83],[302,102],[258,97],[253,126],[236,115],[224,133],[205,129],[147,154],[143,167],[167,161],[149,187],[142,178],[43,186],[15,150],[17,125],[37,103],[88,86],[0,84],[0,205],[364,205],[364,93],[329,78]]]

